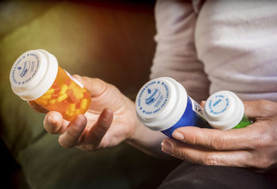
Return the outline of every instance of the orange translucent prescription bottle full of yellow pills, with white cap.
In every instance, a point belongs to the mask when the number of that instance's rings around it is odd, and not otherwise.
[[[59,111],[73,120],[89,108],[91,94],[78,80],[57,64],[51,53],[31,50],[23,53],[10,71],[12,91],[23,100],[34,100],[49,111]]]

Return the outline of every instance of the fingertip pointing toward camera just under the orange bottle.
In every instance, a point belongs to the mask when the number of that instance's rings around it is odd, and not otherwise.
[[[64,132],[68,121],[62,118],[62,114],[57,111],[49,111],[44,117],[44,128],[51,134],[60,134]]]

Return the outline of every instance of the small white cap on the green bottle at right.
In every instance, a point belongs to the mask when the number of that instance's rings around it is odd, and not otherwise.
[[[232,129],[244,115],[242,100],[231,91],[213,93],[204,107],[204,117],[215,129]]]

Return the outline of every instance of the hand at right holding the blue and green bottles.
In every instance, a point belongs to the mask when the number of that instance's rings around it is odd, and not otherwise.
[[[249,101],[244,107],[253,124],[228,131],[180,127],[172,134],[176,140],[163,141],[163,152],[204,165],[273,168],[277,163],[277,102]]]

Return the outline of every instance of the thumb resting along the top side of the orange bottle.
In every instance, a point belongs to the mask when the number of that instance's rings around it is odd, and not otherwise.
[[[104,82],[98,78],[81,77],[80,75],[73,75],[73,77],[81,82],[84,87],[89,90],[91,96],[93,97],[100,96],[107,89],[107,82]]]

